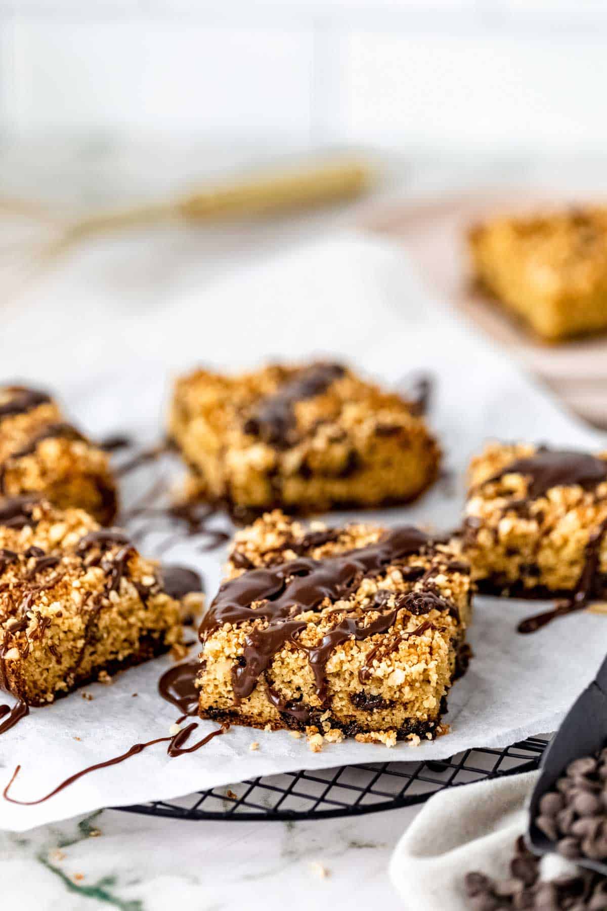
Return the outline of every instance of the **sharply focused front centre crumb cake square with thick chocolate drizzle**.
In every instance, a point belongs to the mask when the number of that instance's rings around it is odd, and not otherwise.
[[[266,514],[236,535],[202,621],[199,713],[328,740],[433,739],[471,590],[468,565],[418,528]]]

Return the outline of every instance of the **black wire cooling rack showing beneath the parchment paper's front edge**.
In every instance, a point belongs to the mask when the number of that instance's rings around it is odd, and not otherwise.
[[[250,778],[171,801],[122,806],[171,819],[304,820],[356,816],[421,804],[443,788],[531,772],[548,741],[530,737],[505,750],[465,750],[440,763],[364,763]]]

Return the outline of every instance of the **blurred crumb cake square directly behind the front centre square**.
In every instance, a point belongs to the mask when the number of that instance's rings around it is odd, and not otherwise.
[[[197,370],[177,380],[169,424],[188,495],[243,517],[403,503],[439,468],[415,407],[338,363]]]

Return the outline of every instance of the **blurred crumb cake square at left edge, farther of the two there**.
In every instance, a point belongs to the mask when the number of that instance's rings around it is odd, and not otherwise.
[[[116,483],[103,450],[68,424],[45,392],[0,387],[0,499],[38,494],[86,509],[102,525],[116,517]]]

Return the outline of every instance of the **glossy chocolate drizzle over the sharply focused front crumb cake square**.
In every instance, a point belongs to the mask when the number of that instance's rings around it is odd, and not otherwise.
[[[315,692],[321,701],[325,701],[327,662],[341,643],[351,639],[365,640],[376,633],[387,632],[394,626],[402,609],[409,610],[411,614],[424,614],[431,609],[449,610],[453,606],[432,592],[410,592],[398,597],[393,608],[385,610],[389,592],[378,592],[369,610],[379,611],[379,617],[365,625],[359,619],[342,616],[316,646],[306,646],[298,640],[307,622],[297,619],[297,615],[306,610],[321,609],[326,600],[347,599],[363,578],[377,577],[403,558],[433,549],[434,542],[435,539],[418,528],[400,527],[386,532],[375,544],[336,557],[323,560],[296,558],[277,567],[251,569],[225,582],[219,589],[200,625],[200,639],[204,642],[224,623],[266,620],[266,627],[255,627],[248,633],[242,664],[239,663],[232,671],[236,699],[246,699],[251,694],[274,656],[290,643],[307,653],[309,667],[314,674]],[[255,608],[252,607],[254,603]],[[336,609],[334,612],[346,613],[347,609]],[[427,627],[421,624],[419,634],[425,629]],[[268,698],[278,705],[280,697],[271,688]],[[303,710],[296,707],[296,711]]]

